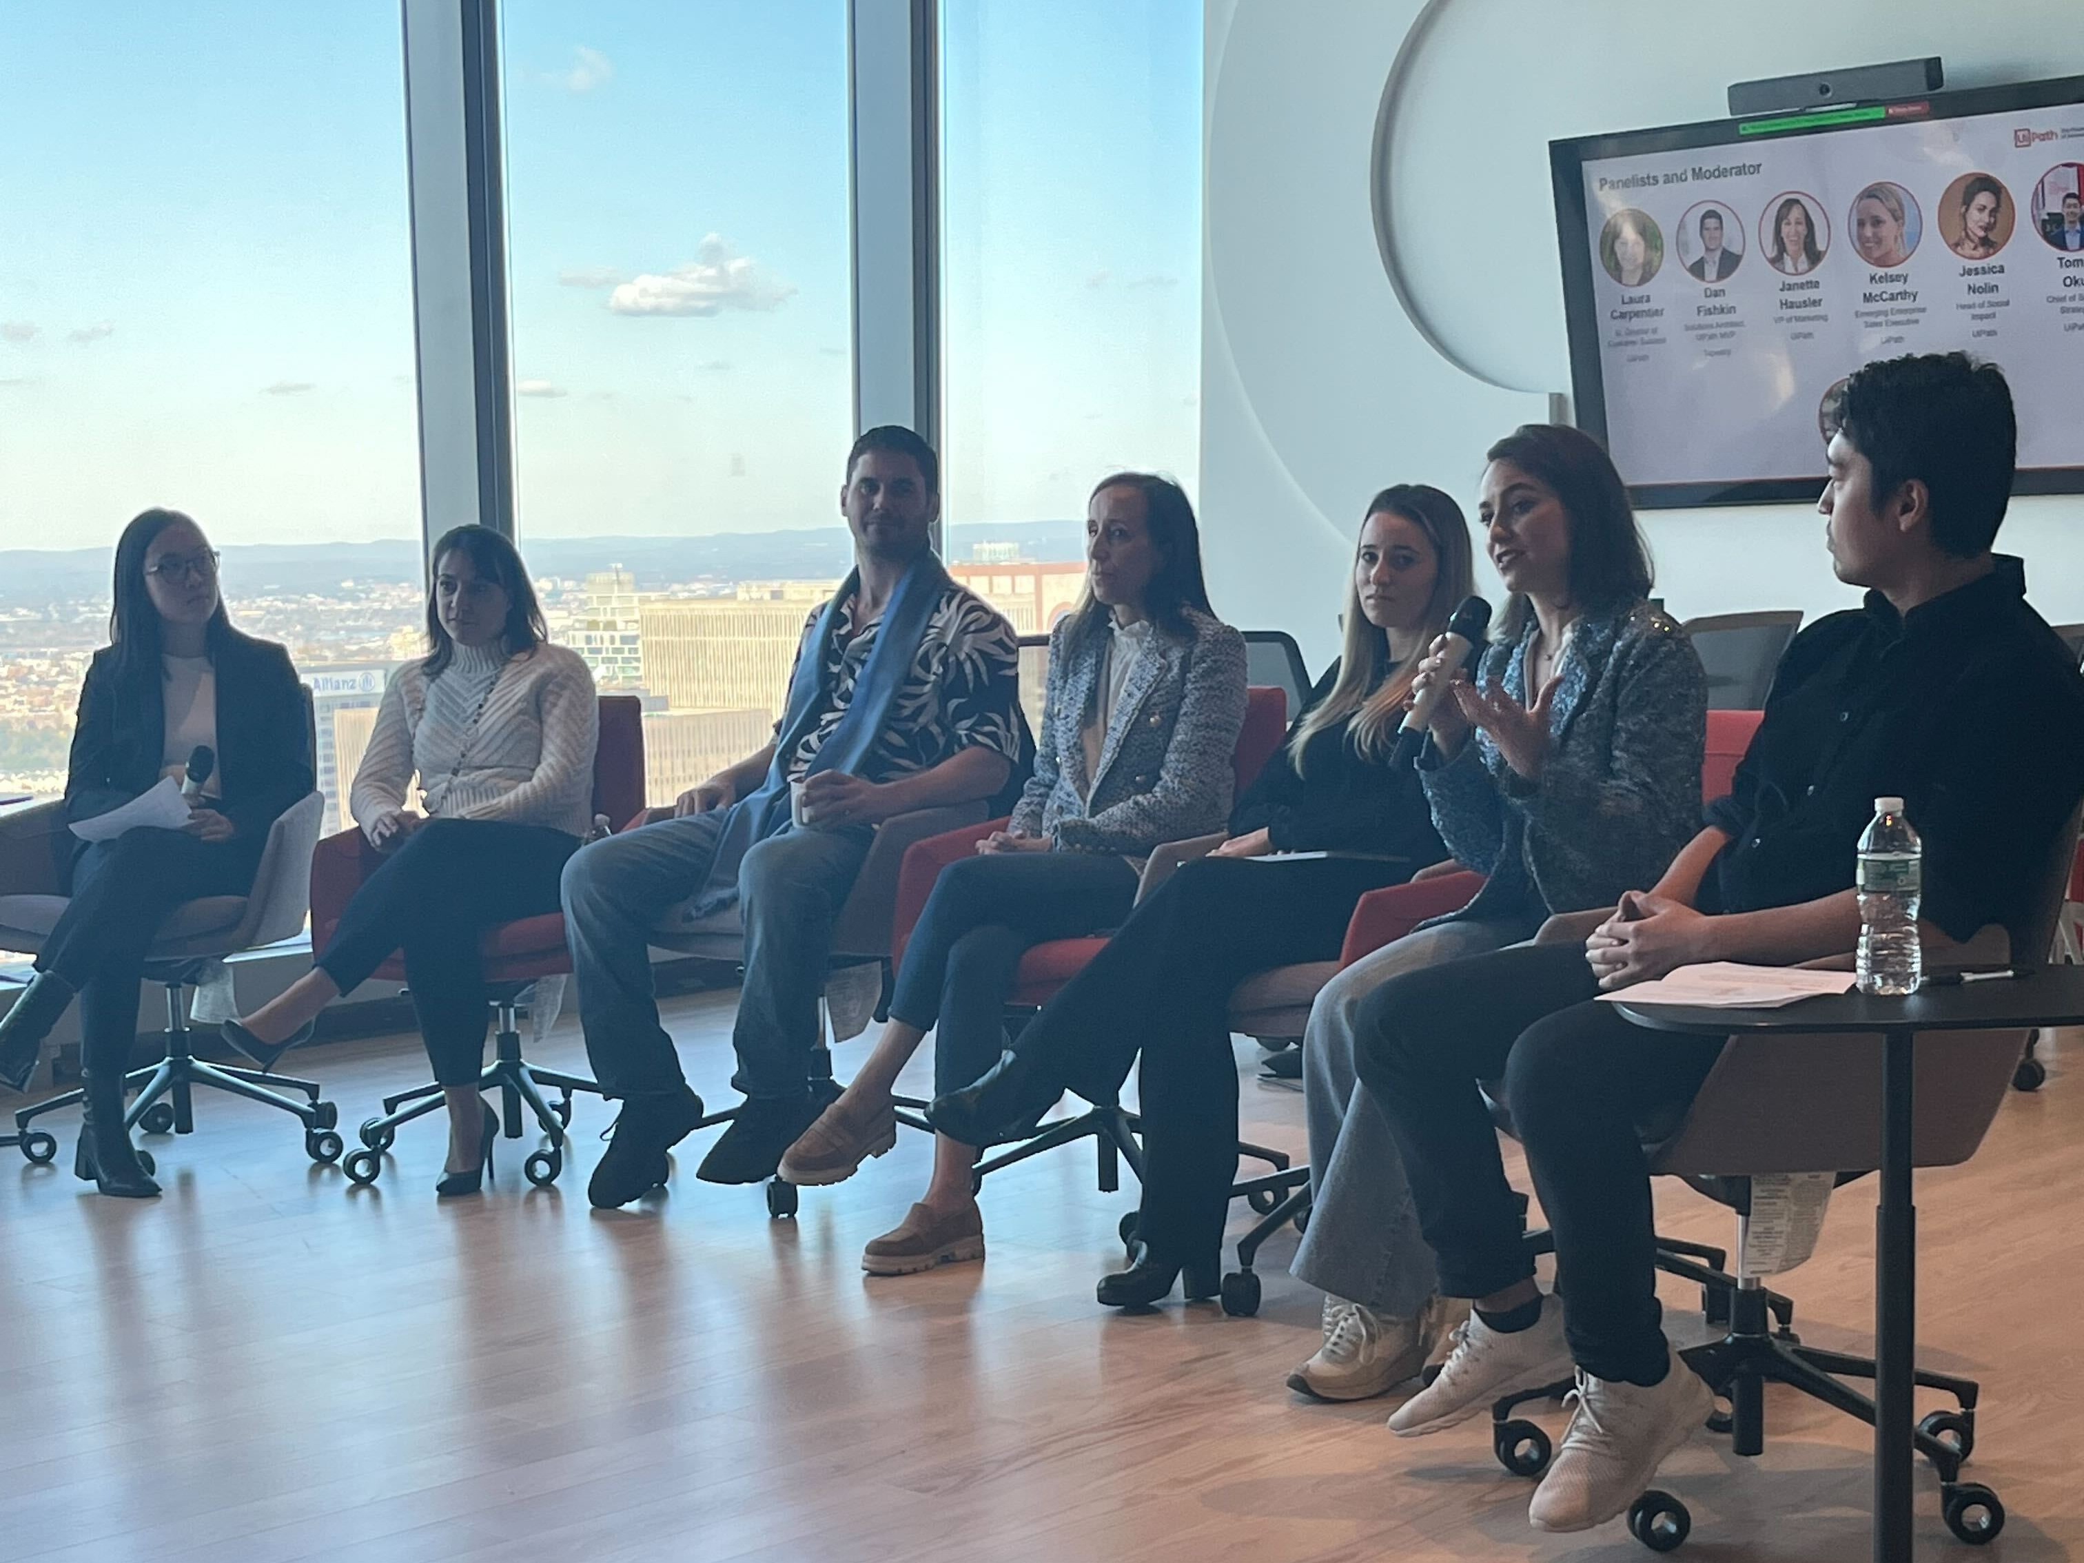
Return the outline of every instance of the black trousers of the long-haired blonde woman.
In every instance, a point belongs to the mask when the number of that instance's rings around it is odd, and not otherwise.
[[[1369,890],[1405,863],[1202,859],[1173,873],[1021,1032],[1088,1100],[1113,1100],[1142,1052],[1144,1194],[1138,1234],[1200,1259],[1223,1244],[1238,1173],[1238,1061],[1230,990],[1255,971],[1334,961]]]

